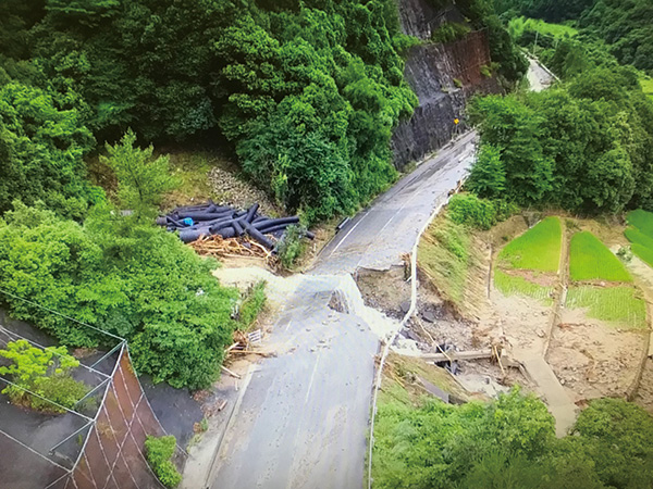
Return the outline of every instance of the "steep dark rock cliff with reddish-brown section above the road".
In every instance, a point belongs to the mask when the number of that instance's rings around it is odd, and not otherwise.
[[[460,22],[455,9],[436,10],[427,0],[399,0],[398,7],[404,33],[422,40],[429,39],[443,22]],[[465,105],[473,93],[500,91],[496,79],[481,73],[481,67],[490,64],[483,30],[445,45],[423,42],[410,50],[405,75],[419,98],[419,106],[409,121],[398,125],[392,138],[398,170],[452,138],[456,130],[454,120],[463,120]]]

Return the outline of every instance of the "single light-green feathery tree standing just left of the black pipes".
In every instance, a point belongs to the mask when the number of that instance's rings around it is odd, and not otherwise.
[[[119,143],[106,145],[108,156],[100,156],[118,177],[118,200],[134,211],[138,220],[151,218],[164,192],[177,185],[170,174],[168,156],[152,158],[153,147],[135,148],[136,135],[128,129]]]

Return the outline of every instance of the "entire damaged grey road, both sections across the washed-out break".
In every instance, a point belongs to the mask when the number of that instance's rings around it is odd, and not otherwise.
[[[217,453],[213,489],[361,488],[379,339],[398,322],[364,304],[352,277],[409,253],[469,168],[463,136],[347,223],[296,279]]]

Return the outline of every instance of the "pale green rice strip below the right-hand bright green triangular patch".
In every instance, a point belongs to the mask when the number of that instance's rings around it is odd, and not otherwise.
[[[588,308],[588,315],[615,326],[640,329],[646,327],[646,306],[632,287],[571,287],[566,306]]]

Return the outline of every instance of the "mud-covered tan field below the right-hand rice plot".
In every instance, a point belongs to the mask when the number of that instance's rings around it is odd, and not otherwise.
[[[645,334],[615,329],[581,309],[564,310],[553,330],[547,362],[576,401],[627,397],[636,379]]]

